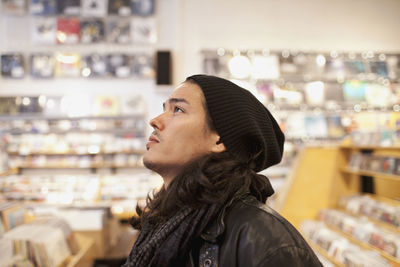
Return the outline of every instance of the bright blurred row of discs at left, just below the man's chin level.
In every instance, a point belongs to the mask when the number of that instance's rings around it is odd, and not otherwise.
[[[162,185],[162,179],[143,169],[134,175],[12,175],[1,179],[0,185],[0,197],[8,200],[79,205],[143,199]]]

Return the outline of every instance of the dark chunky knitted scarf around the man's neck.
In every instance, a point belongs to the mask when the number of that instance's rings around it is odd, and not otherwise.
[[[162,225],[145,224],[123,267],[183,266],[195,239],[222,208],[183,208]]]

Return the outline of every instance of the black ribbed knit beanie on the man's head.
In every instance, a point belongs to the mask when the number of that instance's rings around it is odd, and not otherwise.
[[[267,108],[248,90],[209,75],[187,80],[202,89],[215,129],[229,152],[256,172],[281,161],[285,136]]]

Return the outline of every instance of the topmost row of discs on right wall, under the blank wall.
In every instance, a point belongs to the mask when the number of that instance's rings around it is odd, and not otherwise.
[[[400,55],[374,53],[329,53],[284,51],[203,51],[203,70],[207,74],[255,80],[293,82],[324,79],[335,82],[400,77]]]

